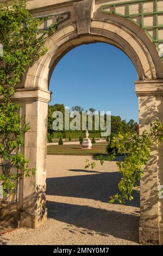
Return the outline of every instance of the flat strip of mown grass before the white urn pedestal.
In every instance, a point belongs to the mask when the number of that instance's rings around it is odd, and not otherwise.
[[[47,147],[48,155],[95,156],[105,154],[106,144],[93,144],[92,149],[82,149],[81,145],[51,145]]]

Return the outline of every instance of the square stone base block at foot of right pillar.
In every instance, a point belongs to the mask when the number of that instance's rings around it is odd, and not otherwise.
[[[139,241],[142,245],[160,245],[159,228],[139,228]]]

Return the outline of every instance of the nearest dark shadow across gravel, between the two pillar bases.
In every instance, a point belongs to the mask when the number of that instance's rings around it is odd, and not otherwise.
[[[70,233],[109,235],[139,243],[139,216],[114,210],[47,201],[48,218],[67,223]]]

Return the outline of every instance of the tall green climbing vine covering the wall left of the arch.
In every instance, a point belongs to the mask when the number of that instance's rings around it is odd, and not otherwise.
[[[35,58],[45,54],[47,37],[54,33],[57,24],[49,28],[43,36],[39,34],[42,20],[34,18],[26,9],[25,0],[5,2],[0,9],[0,43],[3,56],[0,56],[0,175],[4,198],[15,191],[17,182],[25,175],[35,174],[29,168],[29,160],[24,159],[20,147],[24,145],[24,133],[30,129],[21,117],[20,106],[12,102],[15,88],[32,65]],[[16,168],[17,173],[12,172]]]

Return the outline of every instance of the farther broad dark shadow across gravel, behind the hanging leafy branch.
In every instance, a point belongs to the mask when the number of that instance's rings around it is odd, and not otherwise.
[[[83,169],[71,169],[70,172],[74,172],[74,175],[76,172],[94,174],[48,178],[46,194],[87,198],[108,203],[109,197],[118,192],[117,184],[121,179],[118,172],[101,173]],[[126,205],[140,207],[140,194],[134,191],[133,196],[134,200],[128,201]]]

